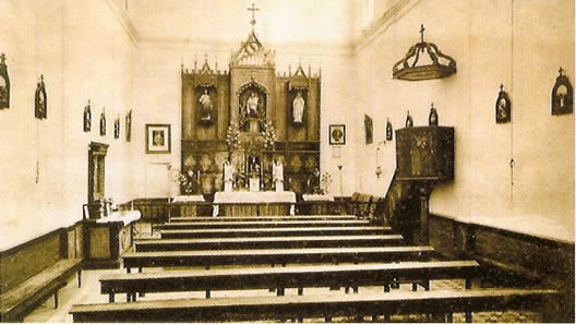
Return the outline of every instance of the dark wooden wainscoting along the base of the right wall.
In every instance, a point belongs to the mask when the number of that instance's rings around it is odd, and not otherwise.
[[[574,323],[574,242],[430,215],[430,243],[448,257],[473,259],[499,281],[523,280],[562,293],[562,319]],[[504,284],[504,283],[503,283]]]

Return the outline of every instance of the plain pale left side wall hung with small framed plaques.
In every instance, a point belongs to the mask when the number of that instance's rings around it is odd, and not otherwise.
[[[11,107],[0,110],[3,250],[82,219],[91,141],[110,145],[106,195],[118,202],[133,197],[127,168],[131,145],[113,140],[113,119],[120,113],[123,139],[134,45],[101,0],[1,1],[0,21],[0,48],[11,81]],[[41,121],[34,118],[40,74],[48,97],[48,119]],[[93,130],[84,133],[88,98]],[[97,128],[103,107],[106,137]]]

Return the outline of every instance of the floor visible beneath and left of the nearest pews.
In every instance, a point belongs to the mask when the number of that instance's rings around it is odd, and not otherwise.
[[[60,305],[53,309],[53,299],[49,298],[44,304],[33,311],[25,322],[40,322],[40,323],[65,323],[72,322],[72,316],[68,313],[73,304],[82,303],[106,303],[108,296],[100,295],[100,287],[98,278],[100,275],[110,273],[123,273],[122,269],[107,269],[107,271],[84,271],[82,288],[77,288],[76,278],[70,278],[68,286],[62,288],[59,293]],[[410,285],[401,285],[400,289],[410,290]],[[464,289],[464,280],[435,280],[432,281],[431,289]],[[382,287],[361,287],[362,292],[381,292]],[[327,288],[309,288],[304,291],[305,295],[319,293],[344,293],[344,288],[339,291],[329,291]],[[232,291],[213,291],[212,297],[242,297],[242,296],[274,296],[274,292],[267,290],[232,290]],[[287,289],[287,296],[296,296],[296,289]],[[204,298],[204,292],[175,292],[175,293],[148,293],[146,297],[141,297],[139,300],[155,300],[155,299],[176,299],[176,298]],[[117,302],[125,301],[124,296],[118,295]],[[454,322],[464,322],[464,314],[454,314]],[[364,320],[371,321],[365,317]],[[380,319],[382,321],[382,317]],[[413,316],[392,316],[393,322],[429,322],[430,319],[421,315]],[[532,312],[483,312],[475,313],[473,321],[478,323],[533,323],[539,322],[540,317]],[[340,317],[333,319],[333,322],[358,322],[356,317]],[[323,319],[309,319],[305,322],[323,322]]]

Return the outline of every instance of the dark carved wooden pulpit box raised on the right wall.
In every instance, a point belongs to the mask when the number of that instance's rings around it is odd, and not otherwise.
[[[454,128],[417,127],[396,131],[398,180],[454,179]]]

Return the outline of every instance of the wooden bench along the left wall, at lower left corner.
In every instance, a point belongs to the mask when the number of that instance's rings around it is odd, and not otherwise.
[[[22,322],[34,307],[53,295],[58,308],[58,290],[67,285],[68,278],[77,273],[77,285],[82,284],[82,260],[62,259],[0,296],[0,320]]]

